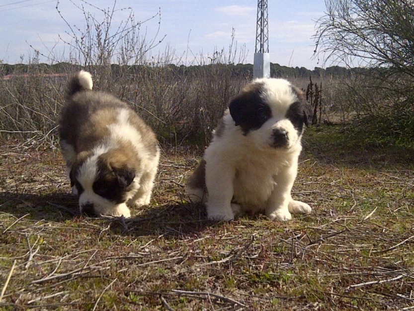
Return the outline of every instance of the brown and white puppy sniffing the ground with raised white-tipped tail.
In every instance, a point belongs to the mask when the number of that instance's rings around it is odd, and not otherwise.
[[[69,81],[59,136],[81,212],[130,217],[150,203],[160,158],[152,129],[127,104],[92,91],[80,71]]]

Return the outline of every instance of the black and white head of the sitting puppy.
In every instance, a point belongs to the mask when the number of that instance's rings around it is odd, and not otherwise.
[[[312,117],[303,92],[284,79],[254,80],[229,109],[235,125],[259,148],[292,148]]]

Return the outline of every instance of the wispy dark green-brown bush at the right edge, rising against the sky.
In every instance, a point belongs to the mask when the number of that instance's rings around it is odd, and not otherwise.
[[[327,0],[315,35],[316,55],[361,71],[345,87],[350,108],[370,136],[414,140],[414,4],[412,0]],[[403,139],[403,137],[406,137]]]

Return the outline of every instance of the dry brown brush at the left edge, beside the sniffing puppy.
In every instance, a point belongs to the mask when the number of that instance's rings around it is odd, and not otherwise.
[[[36,64],[29,64],[25,73],[0,79],[0,137],[53,141],[66,80],[66,75]]]

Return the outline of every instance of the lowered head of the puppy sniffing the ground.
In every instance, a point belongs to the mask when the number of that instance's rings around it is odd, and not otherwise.
[[[138,188],[134,178],[128,157],[118,149],[81,152],[70,172],[81,212],[97,215],[118,215]]]

